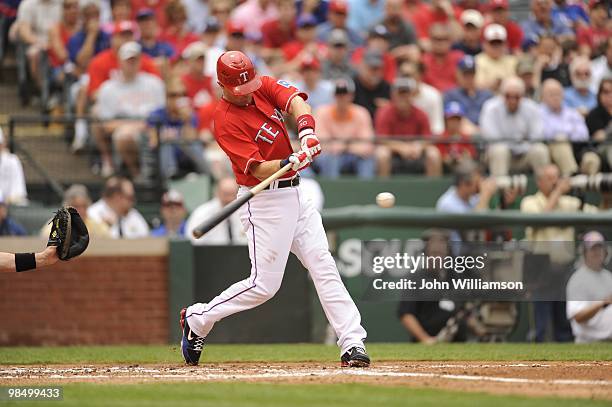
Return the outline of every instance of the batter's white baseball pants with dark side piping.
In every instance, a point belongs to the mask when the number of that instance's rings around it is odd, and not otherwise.
[[[240,187],[238,195],[248,191]],[[215,322],[263,304],[281,286],[289,251],[308,269],[342,355],[363,347],[367,334],[329,252],[321,215],[298,187],[262,191],[240,209],[251,258],[251,275],[208,303],[187,308],[191,329],[205,337]]]

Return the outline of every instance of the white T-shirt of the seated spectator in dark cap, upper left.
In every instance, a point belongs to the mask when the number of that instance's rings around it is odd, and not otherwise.
[[[142,118],[166,102],[164,83],[155,75],[140,72],[133,81],[109,79],[98,93],[96,113],[100,119]]]

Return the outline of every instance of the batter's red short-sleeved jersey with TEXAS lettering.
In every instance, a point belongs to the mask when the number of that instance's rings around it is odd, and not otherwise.
[[[283,160],[293,153],[283,112],[295,96],[304,100],[308,97],[283,80],[262,76],[261,82],[248,106],[221,99],[215,110],[215,139],[232,162],[239,185],[259,184],[260,180],[249,171],[253,163]],[[293,175],[295,171],[290,171],[284,178]]]

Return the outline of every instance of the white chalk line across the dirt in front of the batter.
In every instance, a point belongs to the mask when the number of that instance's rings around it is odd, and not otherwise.
[[[456,366],[456,365],[449,365]],[[36,371],[37,372],[33,372]],[[390,377],[390,378],[429,378],[459,381],[487,381],[494,383],[514,384],[548,384],[548,385],[578,385],[578,386],[612,386],[612,380],[581,380],[581,379],[527,379],[519,377],[497,377],[481,375],[460,375],[423,372],[397,372],[393,370],[357,370],[357,369],[314,369],[303,371],[288,371],[284,369],[264,369],[258,373],[214,373],[201,369],[191,370],[190,374],[161,373],[159,369],[143,368],[109,368],[115,375],[96,374],[95,369],[4,369],[0,370],[0,379],[59,379],[59,380],[99,380],[99,379],[179,379],[179,380],[249,380],[249,379],[284,379],[284,378],[314,378],[314,377]],[[218,369],[221,370],[221,369]],[[133,374],[139,372],[141,374]],[[15,376],[15,373],[24,373]],[[34,374],[31,374],[34,373]],[[38,373],[38,374],[36,374]],[[42,373],[42,374],[41,374]],[[44,374],[48,373],[48,374]],[[63,374],[62,374],[63,373]],[[68,374],[66,374],[68,373]],[[71,374],[72,373],[72,374]],[[79,374],[81,373],[81,374]],[[82,374],[93,373],[93,374]],[[126,373],[126,374],[122,374]],[[142,373],[148,373],[143,375]],[[195,373],[195,374],[194,374]]]

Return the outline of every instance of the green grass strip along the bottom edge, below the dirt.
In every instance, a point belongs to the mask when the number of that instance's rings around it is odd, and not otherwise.
[[[3,403],[4,405],[4,403]],[[6,404],[10,405],[10,404]],[[609,406],[609,402],[494,396],[365,384],[153,383],[127,385],[67,384],[62,402],[15,402],[15,406]]]

